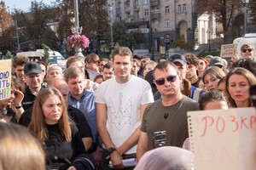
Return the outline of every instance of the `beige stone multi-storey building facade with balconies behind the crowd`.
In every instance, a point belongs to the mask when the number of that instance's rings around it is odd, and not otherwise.
[[[125,20],[145,35],[146,42],[136,48],[160,51],[172,48],[178,36],[192,43],[201,35],[195,33],[201,29],[196,29],[194,0],[108,0],[108,14],[112,22]]]

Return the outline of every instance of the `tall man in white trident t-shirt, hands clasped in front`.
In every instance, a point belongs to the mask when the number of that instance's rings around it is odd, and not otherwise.
[[[103,169],[109,168],[108,161],[115,169],[123,169],[122,160],[136,157],[143,111],[154,102],[148,82],[131,76],[131,59],[129,48],[115,49],[115,77],[102,82],[96,91],[97,128],[105,148]]]

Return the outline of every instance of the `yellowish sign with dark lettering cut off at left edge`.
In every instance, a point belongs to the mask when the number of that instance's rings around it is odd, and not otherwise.
[[[0,60],[0,65],[0,99],[6,99],[11,92],[12,60]]]

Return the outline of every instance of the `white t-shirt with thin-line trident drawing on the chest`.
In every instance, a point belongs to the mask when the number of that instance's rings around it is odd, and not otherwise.
[[[117,148],[141,125],[141,105],[154,102],[149,83],[132,76],[129,82],[118,83],[115,77],[102,82],[96,90],[96,103],[107,105],[106,128]],[[125,154],[136,153],[137,145]]]

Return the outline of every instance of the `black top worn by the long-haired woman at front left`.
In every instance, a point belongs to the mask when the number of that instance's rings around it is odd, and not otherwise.
[[[45,150],[47,166],[50,169],[67,169],[71,165],[74,165],[78,169],[87,169],[87,161],[83,159],[74,161],[78,156],[85,156],[84,144],[78,128],[70,125],[72,138],[71,141],[67,141],[61,133],[58,123],[55,125],[46,125],[46,127],[48,130],[48,139],[44,141],[43,148]]]

